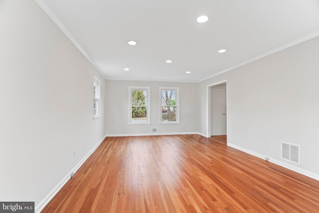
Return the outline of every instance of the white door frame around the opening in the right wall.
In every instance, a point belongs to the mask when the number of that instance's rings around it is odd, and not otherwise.
[[[223,81],[219,81],[213,84],[207,85],[207,138],[211,137],[211,88],[214,86],[217,86],[219,84],[226,83],[226,135],[229,135],[228,130],[228,85],[227,85],[227,79]],[[228,143],[228,138],[227,138]]]

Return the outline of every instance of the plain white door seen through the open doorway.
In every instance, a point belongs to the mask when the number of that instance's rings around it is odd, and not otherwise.
[[[211,135],[226,135],[226,88],[211,88]]]

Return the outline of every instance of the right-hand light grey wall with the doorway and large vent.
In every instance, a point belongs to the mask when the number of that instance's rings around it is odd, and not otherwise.
[[[207,85],[227,80],[228,144],[319,178],[319,37],[198,84],[207,134]],[[281,160],[281,141],[301,145],[301,165]]]

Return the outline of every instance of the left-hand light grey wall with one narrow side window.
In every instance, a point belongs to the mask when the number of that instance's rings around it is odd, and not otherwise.
[[[105,136],[105,79],[33,0],[1,0],[0,31],[0,201],[37,206]]]

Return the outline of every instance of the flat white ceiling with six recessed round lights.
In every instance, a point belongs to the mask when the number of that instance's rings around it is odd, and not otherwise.
[[[319,35],[319,0],[35,1],[107,79],[199,82]]]

